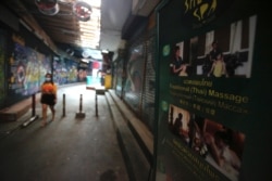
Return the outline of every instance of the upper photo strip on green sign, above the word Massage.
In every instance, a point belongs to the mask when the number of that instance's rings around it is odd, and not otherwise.
[[[250,78],[256,24],[254,15],[173,44],[170,74]]]

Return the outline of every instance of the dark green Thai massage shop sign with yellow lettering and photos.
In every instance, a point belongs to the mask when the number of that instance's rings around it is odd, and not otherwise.
[[[245,150],[254,144],[247,135],[256,124],[250,81],[258,28],[258,13],[244,11],[246,3],[160,4],[157,181],[238,181],[251,174],[242,173],[251,169],[247,158],[259,161]]]

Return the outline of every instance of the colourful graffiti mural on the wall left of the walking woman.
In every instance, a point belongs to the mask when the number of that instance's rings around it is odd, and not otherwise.
[[[30,95],[39,91],[44,75],[51,72],[50,57],[14,42],[9,60],[9,94]]]

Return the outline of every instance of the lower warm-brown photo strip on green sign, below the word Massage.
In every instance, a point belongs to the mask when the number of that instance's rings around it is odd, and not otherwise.
[[[169,130],[231,180],[238,180],[245,134],[170,105]]]

